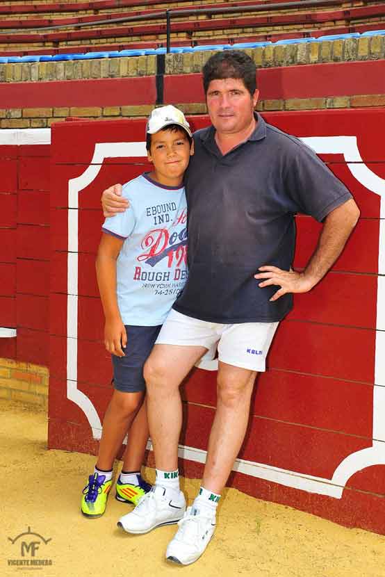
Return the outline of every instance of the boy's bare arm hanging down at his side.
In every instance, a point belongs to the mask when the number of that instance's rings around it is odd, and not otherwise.
[[[116,295],[116,260],[123,243],[120,238],[102,234],[96,259],[97,284],[106,318],[104,344],[108,352],[117,357],[124,357],[122,349],[127,344],[126,329],[117,307]]]

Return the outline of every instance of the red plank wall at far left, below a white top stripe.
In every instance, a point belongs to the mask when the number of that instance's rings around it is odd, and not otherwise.
[[[49,362],[49,145],[0,146],[0,357]]]

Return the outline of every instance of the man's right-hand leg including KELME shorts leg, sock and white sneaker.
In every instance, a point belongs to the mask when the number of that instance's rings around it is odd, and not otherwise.
[[[169,560],[184,565],[195,562],[213,536],[220,493],[245,437],[254,380],[258,371],[265,370],[265,357],[276,328],[277,323],[240,323],[222,330],[217,410],[204,478],[199,494],[167,546]]]

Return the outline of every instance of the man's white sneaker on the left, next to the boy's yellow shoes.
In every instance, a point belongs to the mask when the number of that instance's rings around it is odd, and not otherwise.
[[[127,533],[148,533],[156,527],[177,523],[185,511],[186,500],[182,491],[170,498],[166,489],[154,485],[149,493],[140,498],[131,513],[120,517],[117,526]]]

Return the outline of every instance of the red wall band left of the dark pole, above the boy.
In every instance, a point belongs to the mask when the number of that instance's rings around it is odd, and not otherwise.
[[[140,106],[155,101],[155,76],[0,83],[1,108]]]

